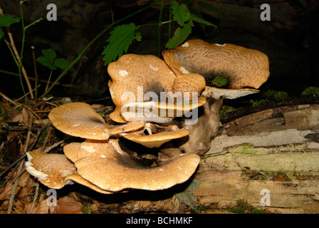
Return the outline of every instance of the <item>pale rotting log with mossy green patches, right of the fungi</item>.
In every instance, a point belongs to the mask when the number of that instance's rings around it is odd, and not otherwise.
[[[319,213],[319,105],[271,108],[224,127],[194,175],[193,181],[200,182],[191,191],[197,206],[214,208],[206,213],[225,212],[244,199],[268,212]],[[145,197],[121,202],[120,210],[187,212],[175,190],[164,190],[162,198],[161,192],[144,192]]]

